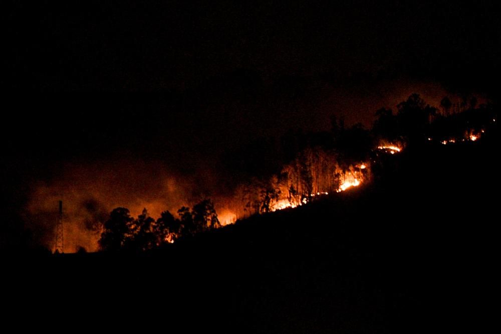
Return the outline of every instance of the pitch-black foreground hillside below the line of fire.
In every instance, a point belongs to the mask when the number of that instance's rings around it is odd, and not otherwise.
[[[481,330],[497,264],[495,147],[409,149],[370,186],[157,252],[16,260],[11,309],[62,308],[114,331]]]

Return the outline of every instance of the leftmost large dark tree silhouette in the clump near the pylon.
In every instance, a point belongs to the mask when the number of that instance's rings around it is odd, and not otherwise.
[[[132,237],[131,225],[134,219],[126,208],[116,208],[110,213],[110,219],[104,223],[104,231],[99,239],[102,250],[117,251]]]

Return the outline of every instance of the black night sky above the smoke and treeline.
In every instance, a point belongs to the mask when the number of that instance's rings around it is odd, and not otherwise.
[[[8,3],[9,229],[40,187],[166,174],[211,194],[228,154],[333,114],[369,127],[413,92],[497,98],[495,2]]]

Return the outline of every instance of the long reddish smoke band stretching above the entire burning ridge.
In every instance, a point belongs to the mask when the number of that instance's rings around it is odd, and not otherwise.
[[[215,105],[209,105],[210,112],[198,117],[201,120],[194,117],[185,127],[173,127],[177,129],[173,132],[175,137],[139,141],[132,135],[132,142],[151,145],[144,150],[154,153],[155,159],[139,155],[142,147],[131,148],[133,153],[113,153],[108,150],[115,148],[107,148],[104,156],[91,159],[78,158],[77,152],[77,157],[52,166],[53,172],[58,171],[52,177],[30,182],[25,210],[27,227],[37,241],[52,249],[58,201],[62,200],[66,252],[74,252],[79,246],[95,251],[102,223],[116,207],[128,208],[132,216],[146,208],[157,218],[164,210],[175,215],[180,207],[192,206],[203,198],[213,200],[219,219],[225,225],[242,216],[241,201],[233,192],[244,180],[224,175],[224,170],[217,167],[223,152],[237,152],[238,147],[260,136],[280,137],[290,128],[328,130],[333,114],[344,116],[347,125],[362,122],[370,127],[375,110],[381,107],[396,110],[396,105],[414,92],[437,107],[446,95],[453,103],[464,99],[450,94],[437,83],[427,82],[355,82],[342,87],[321,82],[308,84],[312,86],[299,97],[280,95],[272,90],[270,95],[278,97],[258,97],[259,103],[232,100],[221,107],[222,102],[216,100]],[[478,103],[483,103],[479,97]],[[266,116],[262,119],[246,117],[253,115],[255,108],[270,112],[261,112]],[[185,131],[192,130],[191,126],[200,131]],[[211,141],[211,138],[217,140]],[[173,148],[163,151],[169,146],[162,146],[163,142],[172,144]]]

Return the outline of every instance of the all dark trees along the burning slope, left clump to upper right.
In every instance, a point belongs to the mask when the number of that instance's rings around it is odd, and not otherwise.
[[[331,131],[287,134],[281,149],[272,154],[276,156],[276,166],[263,173],[247,171],[248,182],[237,187],[235,196],[242,203],[243,213],[239,216],[269,213],[274,211],[273,204],[284,198],[293,205],[311,202],[312,193],[338,190],[347,173],[359,178],[372,177],[367,171],[365,174],[362,170],[355,171],[370,160],[374,176],[381,178],[388,173],[388,167],[384,165],[386,154],[376,149],[379,144],[427,150],[434,148],[430,144],[443,141],[470,141],[471,135],[489,140],[496,133],[497,113],[493,106],[477,106],[475,98],[463,99],[451,111],[452,103],[447,97],[442,99],[438,110],[418,94],[412,94],[397,108],[396,114],[384,108],[376,111],[377,120],[371,131],[361,124],[346,128],[342,119],[332,117]],[[270,150],[270,146],[269,141],[264,141],[263,147],[249,148],[253,154],[242,151],[229,161],[233,164],[230,168],[235,168],[235,163],[240,170],[253,163],[266,164],[255,154]],[[149,217],[146,209],[135,219],[126,208],[116,208],[103,224],[99,245],[107,251],[144,251],[219,227],[214,204],[208,199],[194,205],[192,210],[180,208],[175,216],[165,211],[156,220]]]

